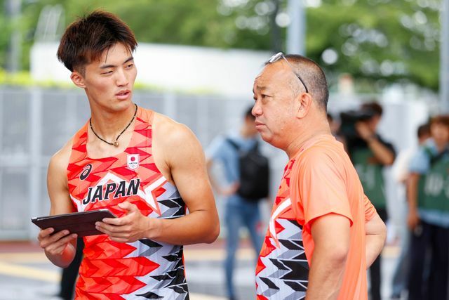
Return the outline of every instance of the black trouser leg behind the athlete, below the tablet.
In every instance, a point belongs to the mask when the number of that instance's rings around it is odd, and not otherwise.
[[[76,254],[67,268],[62,269],[62,278],[60,282],[59,296],[64,300],[72,300],[76,278],[78,277],[79,265],[83,260],[83,239],[79,237],[76,240]]]

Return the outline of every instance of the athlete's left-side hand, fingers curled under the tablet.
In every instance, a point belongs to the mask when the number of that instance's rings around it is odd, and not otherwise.
[[[69,234],[69,230],[61,230],[58,233],[52,235],[53,228],[46,228],[39,232],[37,240],[39,240],[39,246],[45,250],[47,254],[62,255],[67,244],[75,240],[76,233]]]

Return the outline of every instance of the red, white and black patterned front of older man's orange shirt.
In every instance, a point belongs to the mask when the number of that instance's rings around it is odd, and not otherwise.
[[[257,261],[257,300],[305,299],[309,265],[302,243],[302,226],[296,221],[290,200],[294,163],[294,159],[290,160],[284,171]]]

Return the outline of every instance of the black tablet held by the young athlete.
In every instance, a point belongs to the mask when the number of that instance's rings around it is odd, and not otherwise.
[[[108,209],[99,209],[74,212],[72,214],[37,216],[32,218],[31,221],[41,229],[53,227],[55,233],[67,229],[70,233],[76,233],[78,237],[85,237],[87,235],[103,234],[95,229],[95,222],[102,221],[103,218],[116,218],[116,216]]]

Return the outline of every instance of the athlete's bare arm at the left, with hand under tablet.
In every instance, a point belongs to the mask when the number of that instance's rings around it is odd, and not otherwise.
[[[67,147],[53,155],[48,165],[47,188],[50,197],[50,214],[67,214],[73,211],[67,187],[67,164],[69,152]],[[46,228],[39,232],[38,240],[48,259],[61,268],[69,266],[76,252],[76,234],[69,234],[68,230],[53,233],[53,228]]]

